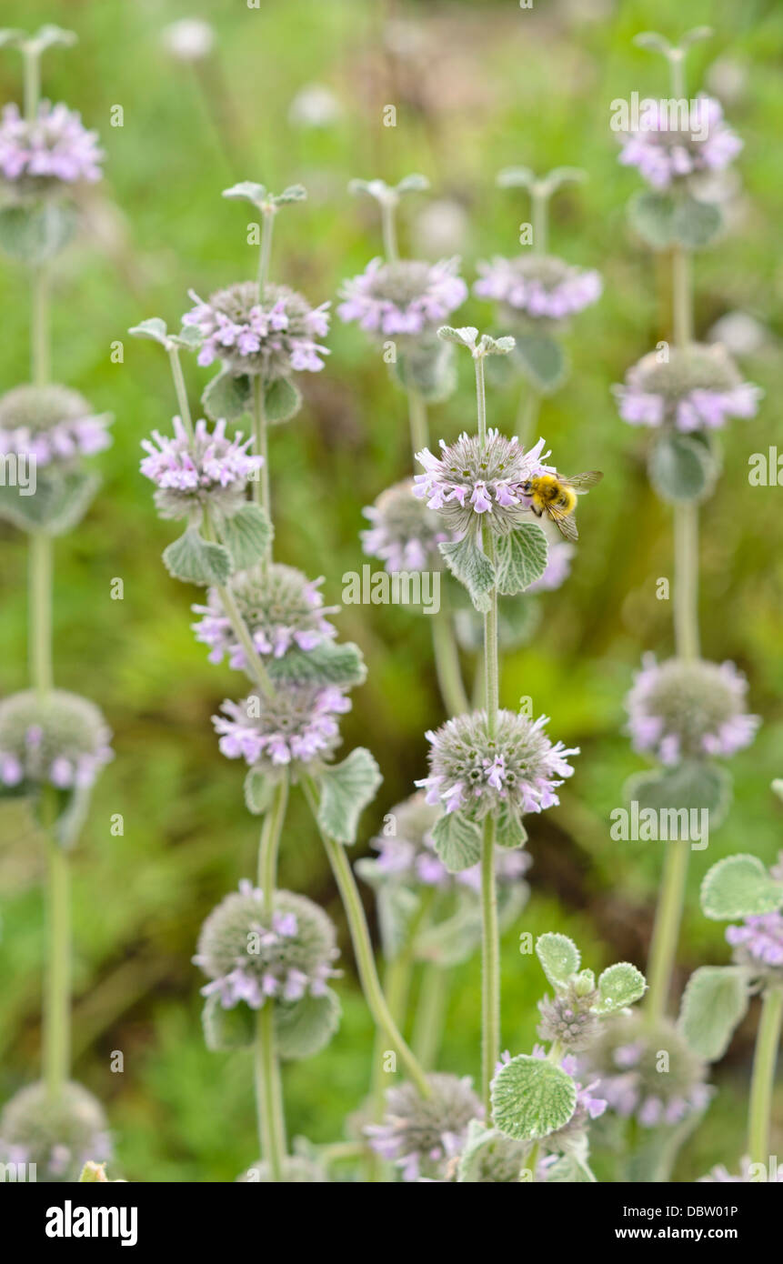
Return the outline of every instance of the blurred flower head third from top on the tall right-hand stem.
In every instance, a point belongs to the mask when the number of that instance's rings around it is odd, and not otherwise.
[[[734,755],[753,742],[760,719],[745,710],[748,681],[732,662],[655,662],[645,655],[643,670],[625,700],[636,751],[662,763]]]

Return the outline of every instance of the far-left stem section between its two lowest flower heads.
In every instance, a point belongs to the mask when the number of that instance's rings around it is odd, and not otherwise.
[[[68,1079],[71,1047],[71,908],[68,857],[48,843],[48,969],[43,1010],[43,1078],[52,1101]]]

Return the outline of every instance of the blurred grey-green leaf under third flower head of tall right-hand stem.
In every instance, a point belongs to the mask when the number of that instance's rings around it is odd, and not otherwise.
[[[640,811],[651,808],[659,817],[662,811],[708,811],[710,828],[715,829],[729,810],[731,774],[717,763],[687,760],[673,769],[635,774],[629,777],[624,794],[629,803],[639,804]],[[687,830],[681,818],[672,818],[670,825],[667,818],[669,838],[689,837],[689,818]]]

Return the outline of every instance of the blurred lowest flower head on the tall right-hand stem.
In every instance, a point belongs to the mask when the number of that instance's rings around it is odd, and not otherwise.
[[[617,1015],[584,1063],[610,1109],[643,1127],[679,1124],[710,1100],[705,1064],[668,1019],[651,1026],[645,1014]]]

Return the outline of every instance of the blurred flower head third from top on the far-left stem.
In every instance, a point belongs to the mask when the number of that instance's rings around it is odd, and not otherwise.
[[[0,782],[90,786],[113,757],[111,732],[86,698],[52,689],[0,702]]]

